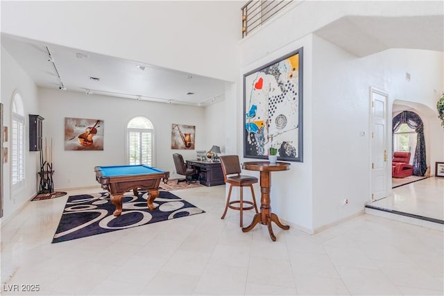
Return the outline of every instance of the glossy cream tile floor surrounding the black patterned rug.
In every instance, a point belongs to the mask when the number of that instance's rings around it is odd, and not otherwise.
[[[29,202],[1,229],[1,294],[444,293],[443,232],[363,214],[315,235],[274,227],[273,243],[266,227],[241,232],[237,211],[221,220],[224,192],[173,191],[206,213],[56,244],[68,195]],[[26,285],[40,290],[24,293]],[[20,291],[9,291],[15,287]]]

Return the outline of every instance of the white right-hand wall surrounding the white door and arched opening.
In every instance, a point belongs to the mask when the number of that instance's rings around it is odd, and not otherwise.
[[[390,49],[356,58],[316,36],[313,49],[313,207],[314,228],[320,229],[359,213],[370,198],[370,87],[388,93],[390,110],[394,98],[400,97],[436,105],[434,89],[443,89],[443,53]],[[406,71],[411,81],[405,79]],[[440,137],[436,121],[425,123],[427,135]],[[391,143],[391,132],[386,141]],[[437,146],[430,150],[428,162],[436,157],[436,149],[443,156],[444,147]],[[345,198],[350,201],[347,206]]]

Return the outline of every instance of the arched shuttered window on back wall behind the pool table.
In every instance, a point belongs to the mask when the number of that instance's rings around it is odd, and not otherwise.
[[[153,124],[145,117],[138,116],[130,120],[127,130],[128,164],[154,165],[153,159]]]

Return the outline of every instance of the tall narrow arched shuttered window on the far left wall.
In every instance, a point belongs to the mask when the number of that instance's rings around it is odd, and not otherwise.
[[[24,108],[22,96],[15,92],[11,114],[11,182],[12,190],[24,186]]]

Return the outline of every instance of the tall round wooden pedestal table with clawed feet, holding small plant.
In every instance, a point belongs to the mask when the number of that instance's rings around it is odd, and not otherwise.
[[[260,186],[261,186],[261,209],[259,214],[255,214],[253,222],[247,227],[242,228],[242,232],[249,232],[253,229],[257,223],[268,226],[268,232],[272,241],[276,241],[276,236],[273,234],[273,228],[271,228],[271,221],[276,223],[284,230],[290,229],[289,225],[283,225],[280,223],[276,214],[271,213],[270,191],[271,191],[271,172],[275,171],[288,171],[290,164],[288,162],[276,162],[271,164],[270,162],[244,162],[242,168],[248,171],[260,172]]]

